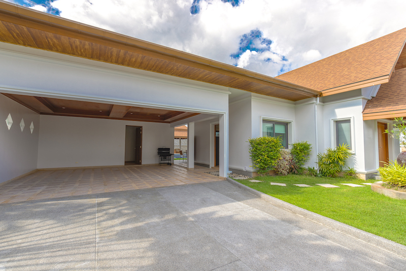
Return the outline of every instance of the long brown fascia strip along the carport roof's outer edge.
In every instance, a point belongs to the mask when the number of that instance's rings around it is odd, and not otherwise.
[[[0,2],[0,13],[2,13],[1,9],[5,9],[5,7],[9,9],[6,9],[6,12],[3,12],[2,17],[5,21],[10,23],[16,23],[42,31],[49,31],[56,35],[63,35],[74,39],[93,42],[174,63],[185,64],[191,67],[196,67],[197,69],[256,82],[306,96],[317,96],[322,94],[320,91],[260,75],[229,64],[148,43],[89,25],[79,24],[23,7],[6,4],[4,2]],[[6,18],[8,18],[8,20]],[[244,90],[249,91],[247,89]]]

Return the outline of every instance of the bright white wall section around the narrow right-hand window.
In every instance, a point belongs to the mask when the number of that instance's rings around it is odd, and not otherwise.
[[[365,174],[365,149],[364,149],[364,122],[362,120],[362,98],[354,97],[344,100],[329,101],[323,106],[323,130],[324,147],[319,152],[324,152],[326,148],[334,148],[334,122],[335,119],[351,119],[353,155],[349,158],[349,166],[354,167],[358,173]]]

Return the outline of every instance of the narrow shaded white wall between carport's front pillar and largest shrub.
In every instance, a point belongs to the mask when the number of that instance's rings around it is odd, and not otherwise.
[[[229,168],[231,171],[252,172],[249,155],[249,143],[252,138],[251,94],[242,99],[231,101],[229,115]]]

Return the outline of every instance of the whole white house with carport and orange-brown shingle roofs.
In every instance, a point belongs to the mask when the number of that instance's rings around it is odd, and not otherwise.
[[[383,90],[401,89],[405,40],[402,29],[273,78],[0,0],[0,183],[39,168],[124,165],[129,141],[136,161],[157,164],[181,125],[187,167],[219,165],[222,178],[252,175],[247,140],[265,135],[285,148],[310,142],[310,166],[350,143],[351,165],[368,176],[381,160],[378,124],[390,127],[389,106],[405,109]],[[384,144],[396,157],[398,142]]]

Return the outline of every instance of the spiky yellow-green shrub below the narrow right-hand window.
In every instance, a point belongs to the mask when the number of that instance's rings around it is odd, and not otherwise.
[[[337,177],[348,167],[347,158],[351,156],[348,145],[340,145],[334,149],[327,148],[325,153],[317,155],[319,174],[325,177]]]

